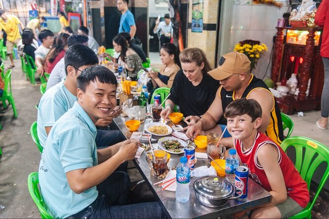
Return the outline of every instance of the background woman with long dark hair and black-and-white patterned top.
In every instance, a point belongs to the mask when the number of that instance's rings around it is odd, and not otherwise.
[[[143,69],[142,59],[127,45],[125,37],[118,34],[112,43],[115,52],[120,53],[119,58],[125,64],[128,76],[132,81],[136,81],[137,73]]]

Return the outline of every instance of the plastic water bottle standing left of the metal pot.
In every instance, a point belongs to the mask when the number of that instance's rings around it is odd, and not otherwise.
[[[179,202],[187,202],[190,199],[190,174],[187,158],[181,157],[176,168],[176,200]]]

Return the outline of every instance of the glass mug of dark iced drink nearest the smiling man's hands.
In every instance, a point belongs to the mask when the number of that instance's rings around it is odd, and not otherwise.
[[[154,151],[154,157],[152,153],[148,153],[146,156],[147,162],[154,171],[155,176],[160,176],[165,173],[167,169],[167,153],[163,150]]]

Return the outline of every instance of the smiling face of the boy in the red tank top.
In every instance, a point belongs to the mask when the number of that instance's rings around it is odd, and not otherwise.
[[[238,115],[235,117],[228,117],[228,131],[234,139],[245,140],[248,137],[253,137],[253,133],[257,132],[257,129],[262,123],[261,118],[257,118],[252,122],[251,117],[247,114]]]

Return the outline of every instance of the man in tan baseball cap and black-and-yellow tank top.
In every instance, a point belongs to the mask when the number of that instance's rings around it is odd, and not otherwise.
[[[195,124],[188,127],[186,131],[188,137],[193,139],[202,131],[221,134],[227,124],[223,116],[226,107],[236,99],[247,98],[257,100],[262,106],[262,125],[258,131],[265,133],[278,145],[281,144],[283,129],[279,106],[266,84],[250,73],[250,60],[247,55],[238,52],[225,54],[220,58],[218,67],[208,74],[219,80],[221,86],[207,112],[198,121],[195,119]],[[225,146],[233,146],[230,135],[223,134],[221,143]]]

